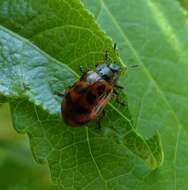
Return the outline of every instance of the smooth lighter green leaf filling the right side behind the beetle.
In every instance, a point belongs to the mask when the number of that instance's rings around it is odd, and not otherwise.
[[[176,0],[83,2],[117,42],[128,67],[139,65],[130,68],[126,80],[130,111],[146,136],[159,129],[164,145],[164,164],[157,171],[141,177],[141,167],[134,179],[117,180],[132,185],[127,189],[187,189],[188,24],[183,9]]]

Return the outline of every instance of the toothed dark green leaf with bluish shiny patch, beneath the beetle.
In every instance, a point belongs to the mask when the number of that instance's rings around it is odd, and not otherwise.
[[[15,128],[29,134],[36,160],[48,161],[61,189],[111,189],[120,176],[134,179],[140,165],[140,175],[150,171],[139,157],[152,169],[161,164],[158,133],[148,140],[140,136],[127,108],[110,104],[101,131],[68,128],[57,115],[61,99],[55,94],[72,84],[79,64],[92,68],[112,49],[78,1],[1,0],[0,22],[25,37],[0,29],[1,94],[13,100]]]

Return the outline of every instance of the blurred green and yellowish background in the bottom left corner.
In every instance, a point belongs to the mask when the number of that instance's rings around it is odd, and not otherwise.
[[[0,105],[0,190],[57,190],[46,165],[33,160],[26,135],[11,123],[9,105]]]

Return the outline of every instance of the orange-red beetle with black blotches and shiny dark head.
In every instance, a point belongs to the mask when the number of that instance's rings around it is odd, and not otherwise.
[[[81,78],[69,87],[61,105],[65,123],[81,126],[89,121],[98,120],[107,105],[120,74],[117,64],[97,64],[93,71],[84,72]]]

